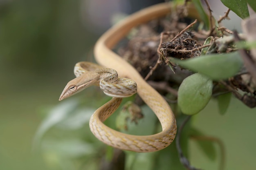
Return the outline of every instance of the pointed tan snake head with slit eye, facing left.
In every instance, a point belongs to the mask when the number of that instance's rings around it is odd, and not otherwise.
[[[67,97],[81,92],[83,89],[89,86],[97,84],[99,84],[99,80],[97,79],[96,74],[91,72],[83,73],[79,77],[76,77],[67,83],[58,100],[61,101]]]

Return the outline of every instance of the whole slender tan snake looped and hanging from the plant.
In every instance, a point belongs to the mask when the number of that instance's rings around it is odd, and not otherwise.
[[[93,113],[89,121],[94,136],[109,146],[134,152],[155,152],[166,148],[175,139],[176,119],[169,104],[132,65],[112,51],[133,27],[165,16],[171,12],[171,9],[170,2],[156,4],[141,9],[112,26],[101,35],[94,46],[94,57],[100,65],[78,62],[74,67],[76,78],[68,82],[61,93],[59,100],[96,85],[100,86],[106,95],[112,97]],[[191,7],[187,9],[193,17],[195,13]],[[123,97],[134,95],[136,92],[159,119],[161,132],[153,135],[130,135],[109,128],[103,123],[117,110]]]

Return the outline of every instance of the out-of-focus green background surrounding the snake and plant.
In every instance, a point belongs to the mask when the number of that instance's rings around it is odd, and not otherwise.
[[[61,103],[58,97],[74,77],[74,64],[94,61],[94,43],[111,26],[112,16],[129,14],[157,2],[0,0],[0,170],[72,169],[63,167],[58,161],[62,159],[49,152],[32,154],[38,127]],[[211,7],[216,18],[227,10],[216,1]],[[230,18],[226,26],[240,30],[238,17],[231,13]],[[101,95],[93,97],[92,89],[74,98],[89,93],[90,101],[85,103],[97,108],[97,97]],[[217,103],[212,100],[192,124],[223,141],[227,153],[225,169],[240,170],[256,168],[255,120],[255,109],[232,98],[225,115],[218,114]],[[88,124],[85,128],[90,133]],[[205,157],[193,140],[189,145],[194,166],[217,169],[218,159]]]

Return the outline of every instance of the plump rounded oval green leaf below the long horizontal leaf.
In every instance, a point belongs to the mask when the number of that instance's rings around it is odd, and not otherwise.
[[[212,93],[212,80],[195,73],[186,77],[178,91],[178,105],[186,115],[199,113],[209,102]]]

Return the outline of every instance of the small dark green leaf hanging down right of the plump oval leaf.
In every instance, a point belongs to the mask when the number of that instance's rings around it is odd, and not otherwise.
[[[224,115],[229,107],[231,93],[225,93],[223,95],[218,95],[218,108],[221,115]]]

